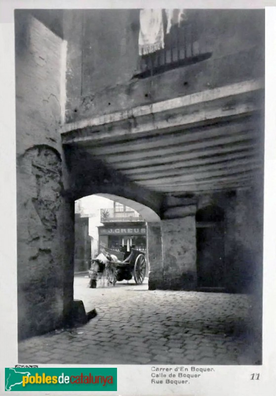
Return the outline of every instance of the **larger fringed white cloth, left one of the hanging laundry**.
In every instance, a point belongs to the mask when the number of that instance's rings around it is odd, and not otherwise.
[[[164,48],[164,28],[161,9],[140,10],[139,55]]]

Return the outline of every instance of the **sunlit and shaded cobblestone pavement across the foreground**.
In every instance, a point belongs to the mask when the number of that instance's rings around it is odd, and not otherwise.
[[[245,295],[148,291],[147,285],[89,289],[75,279],[75,298],[97,316],[71,331],[19,343],[20,363],[258,364],[247,336]]]

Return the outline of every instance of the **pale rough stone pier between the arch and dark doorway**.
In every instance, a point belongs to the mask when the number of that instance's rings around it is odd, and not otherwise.
[[[181,218],[161,221],[163,247],[163,288],[195,290],[197,287],[196,206],[174,210]]]

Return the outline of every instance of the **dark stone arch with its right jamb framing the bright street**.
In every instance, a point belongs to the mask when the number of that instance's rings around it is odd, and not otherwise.
[[[160,229],[163,195],[131,182],[117,170],[79,148],[64,148],[68,164],[72,201],[90,196],[115,199],[133,207],[147,222],[149,262],[149,289],[157,289],[163,283],[163,256]]]

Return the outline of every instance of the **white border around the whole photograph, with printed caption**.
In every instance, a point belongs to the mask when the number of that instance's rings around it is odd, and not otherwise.
[[[118,367],[118,391],[114,395],[272,396],[276,388],[276,1],[171,0],[177,8],[264,8],[266,7],[266,118],[265,118],[265,210],[263,364],[261,366],[212,366],[215,372],[193,382],[192,387],[152,385],[151,366]],[[168,1],[93,0],[2,0],[0,7],[0,395],[4,395],[4,368],[18,363],[17,352],[17,252],[16,252],[16,166],[15,166],[15,8],[164,8]],[[275,7],[274,7],[275,6]],[[35,362],[34,362],[35,363]],[[39,365],[47,367],[50,365]],[[53,365],[56,366],[56,365]],[[64,367],[78,367],[67,366]],[[80,367],[80,366],[79,366]],[[112,367],[112,365],[109,365]],[[116,366],[114,366],[116,367]],[[260,373],[259,381],[250,380]],[[20,393],[14,393],[20,394]],[[45,392],[33,392],[46,395]],[[60,395],[61,393],[47,393]],[[74,395],[91,395],[79,392]],[[101,392],[101,395],[111,393]],[[26,393],[22,393],[26,395]]]

